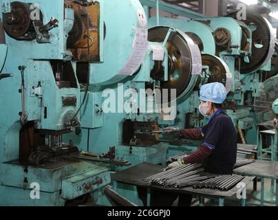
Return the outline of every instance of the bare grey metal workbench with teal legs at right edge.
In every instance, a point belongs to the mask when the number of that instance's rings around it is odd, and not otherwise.
[[[261,179],[261,206],[264,206],[264,179],[268,178],[272,181],[276,181],[275,205],[278,206],[278,162],[255,160],[253,164],[236,168],[234,173],[245,176],[255,176]]]

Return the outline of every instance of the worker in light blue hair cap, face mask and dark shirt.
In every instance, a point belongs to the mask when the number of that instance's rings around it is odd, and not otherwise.
[[[222,83],[209,83],[200,90],[199,111],[210,115],[206,126],[184,129],[181,137],[204,140],[193,154],[169,164],[167,169],[180,164],[203,163],[210,173],[232,174],[237,157],[237,133],[231,118],[222,111],[226,89]]]

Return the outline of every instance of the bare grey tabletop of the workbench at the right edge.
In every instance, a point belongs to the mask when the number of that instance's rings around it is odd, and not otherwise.
[[[239,175],[254,175],[261,177],[278,177],[278,162],[267,160],[255,160],[252,164],[247,164],[233,170]]]

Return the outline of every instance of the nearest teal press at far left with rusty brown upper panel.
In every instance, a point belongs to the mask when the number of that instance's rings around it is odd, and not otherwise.
[[[98,203],[107,167],[63,137],[81,126],[80,65],[103,61],[103,2],[0,3],[0,205]]]

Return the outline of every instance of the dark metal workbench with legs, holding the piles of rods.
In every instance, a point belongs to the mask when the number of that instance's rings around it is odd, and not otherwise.
[[[197,195],[200,199],[200,206],[204,206],[204,198],[218,199],[218,205],[224,206],[224,199],[226,197],[233,197],[233,195],[236,195],[239,190],[236,186],[227,192],[208,188],[194,189],[192,186],[186,188],[162,188],[160,186],[149,186],[147,182],[143,181],[146,177],[155,175],[162,171],[162,166],[142,163],[131,168],[127,168],[126,170],[122,170],[118,173],[111,174],[111,179],[114,181],[115,190],[117,188],[117,182],[147,188],[147,206],[150,206],[151,203],[151,189]],[[244,182],[247,186],[247,184],[253,181],[253,179],[254,177],[246,177],[242,180],[242,182]],[[245,199],[242,199],[242,206],[245,206],[245,203]]]

